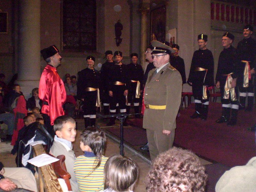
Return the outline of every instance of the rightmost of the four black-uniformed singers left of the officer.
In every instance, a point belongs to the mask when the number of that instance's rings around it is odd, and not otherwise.
[[[128,92],[128,103],[126,106],[126,113],[130,113],[130,106],[133,101],[134,113],[136,118],[140,118],[140,93],[143,92],[143,69],[141,65],[138,64],[138,54],[131,54],[132,63],[128,64],[128,75],[130,80],[130,87]]]

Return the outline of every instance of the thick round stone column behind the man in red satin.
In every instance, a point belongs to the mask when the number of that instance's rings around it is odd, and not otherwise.
[[[40,81],[40,0],[19,0],[18,80],[25,98]]]

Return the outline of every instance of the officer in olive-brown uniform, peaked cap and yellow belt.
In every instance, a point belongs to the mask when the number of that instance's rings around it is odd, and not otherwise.
[[[151,45],[156,68],[149,71],[145,85],[143,128],[147,129],[149,153],[153,161],[159,153],[173,145],[182,79],[179,71],[169,62],[170,54],[175,51],[159,41],[152,41]]]

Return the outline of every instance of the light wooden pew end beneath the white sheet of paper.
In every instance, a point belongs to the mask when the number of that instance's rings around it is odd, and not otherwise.
[[[46,153],[43,144],[33,146],[34,155],[39,156]],[[40,182],[40,192],[62,192],[58,177],[52,167],[52,164],[44,165],[38,168],[38,176]],[[42,185],[43,184],[43,185]]]

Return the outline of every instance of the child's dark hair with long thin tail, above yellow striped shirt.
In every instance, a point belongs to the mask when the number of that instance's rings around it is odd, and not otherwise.
[[[101,157],[104,154],[105,147],[106,147],[106,142],[107,142],[107,137],[106,134],[102,131],[89,131],[85,130],[81,136],[81,142],[84,145],[88,145],[91,149],[96,158],[98,159],[98,164],[94,169],[100,166],[101,163]]]

